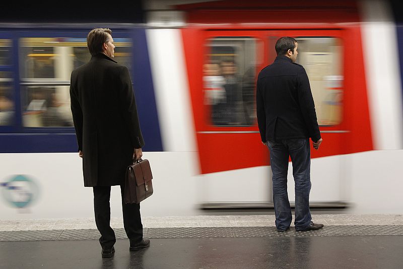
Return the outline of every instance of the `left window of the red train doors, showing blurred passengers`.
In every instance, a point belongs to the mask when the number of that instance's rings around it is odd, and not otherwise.
[[[253,125],[256,118],[256,39],[217,37],[208,40],[207,46],[203,81],[209,124]]]

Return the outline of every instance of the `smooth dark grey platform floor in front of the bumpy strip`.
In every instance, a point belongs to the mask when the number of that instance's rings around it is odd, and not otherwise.
[[[96,240],[0,242],[2,268],[401,268],[403,236],[152,239],[101,258]]]

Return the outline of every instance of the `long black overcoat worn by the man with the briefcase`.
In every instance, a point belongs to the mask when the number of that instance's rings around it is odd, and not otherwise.
[[[128,69],[93,56],[72,72],[70,99],[84,186],[122,184],[134,149],[144,146]]]

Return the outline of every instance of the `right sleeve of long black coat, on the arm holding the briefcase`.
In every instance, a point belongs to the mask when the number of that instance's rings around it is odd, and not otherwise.
[[[140,129],[136,99],[133,93],[129,71],[126,66],[122,66],[122,69],[119,72],[119,80],[121,85],[119,89],[119,102],[123,120],[129,131],[131,144],[134,148],[139,149],[144,146],[144,140]]]

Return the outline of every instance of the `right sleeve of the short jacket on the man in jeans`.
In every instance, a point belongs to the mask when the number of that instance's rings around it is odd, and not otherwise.
[[[308,128],[309,137],[316,142],[320,139],[319,125],[316,118],[315,103],[313,101],[308,75],[304,68],[298,72],[297,80],[298,102]]]

